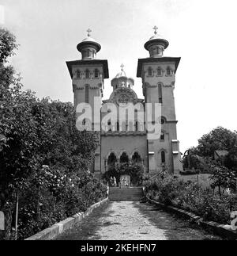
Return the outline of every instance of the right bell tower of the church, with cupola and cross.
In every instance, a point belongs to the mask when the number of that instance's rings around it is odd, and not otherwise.
[[[169,42],[157,33],[145,43],[149,58],[138,59],[137,77],[142,79],[145,103],[155,103],[161,109],[160,137],[147,139],[149,153],[149,172],[155,174],[157,170],[167,170],[178,174],[182,170],[179,141],[177,139],[175,117],[175,73],[181,58],[165,57],[164,50]],[[153,119],[156,123],[157,120]]]

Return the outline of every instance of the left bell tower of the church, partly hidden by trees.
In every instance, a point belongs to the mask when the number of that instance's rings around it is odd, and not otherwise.
[[[91,29],[87,37],[77,44],[81,59],[67,61],[66,65],[72,78],[74,107],[86,103],[92,109],[92,131],[100,128],[100,105],[95,105],[95,98],[101,103],[103,97],[103,79],[109,78],[107,59],[96,59],[101,46],[91,37]],[[82,113],[81,113],[82,114]],[[77,113],[77,117],[80,113]],[[96,149],[93,169],[100,171],[100,146]]]

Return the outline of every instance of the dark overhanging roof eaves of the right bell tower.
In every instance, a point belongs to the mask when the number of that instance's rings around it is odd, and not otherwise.
[[[179,66],[180,57],[160,57],[160,58],[146,58],[138,59],[137,63],[137,78],[141,78],[142,65],[145,63],[164,63],[164,62],[175,62],[175,73]]]

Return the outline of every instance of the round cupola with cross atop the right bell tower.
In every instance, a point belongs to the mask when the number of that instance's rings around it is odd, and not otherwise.
[[[169,42],[163,36],[157,34],[156,30],[158,28],[156,26],[153,29],[155,30],[154,35],[144,44],[144,47],[149,51],[150,58],[162,57],[164,49],[168,47]]]

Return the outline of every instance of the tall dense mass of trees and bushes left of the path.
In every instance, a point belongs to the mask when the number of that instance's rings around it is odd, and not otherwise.
[[[19,195],[23,239],[85,210],[104,197],[105,188],[87,173],[98,134],[77,131],[71,103],[40,100],[22,90],[21,78],[7,65],[17,48],[15,37],[0,29],[0,42],[0,210],[6,216],[6,239],[11,239]]]

